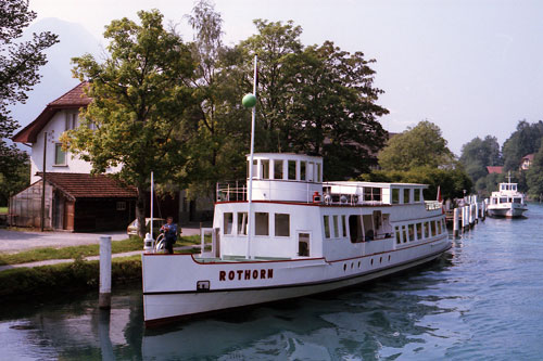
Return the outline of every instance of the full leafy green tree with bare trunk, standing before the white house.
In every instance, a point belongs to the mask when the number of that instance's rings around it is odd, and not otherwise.
[[[92,164],[93,172],[122,166],[116,176],[138,190],[143,236],[151,171],[163,182],[186,162],[184,117],[192,105],[193,62],[179,35],[163,27],[157,10],[140,11],[138,17],[141,24],[125,17],[106,27],[104,63],[90,54],[73,59],[74,75],[89,81],[86,91],[93,101],[81,113],[81,126],[62,140]]]

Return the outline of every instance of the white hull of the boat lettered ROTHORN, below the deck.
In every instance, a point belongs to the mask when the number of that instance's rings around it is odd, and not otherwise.
[[[404,249],[333,262],[320,258],[198,263],[190,255],[146,254],[142,256],[146,325],[349,287],[428,262],[450,247],[445,235]],[[255,272],[257,276],[253,278]],[[162,278],[164,274],[168,276]],[[199,274],[200,281],[207,281],[210,288],[197,291],[199,280],[192,278],[194,274]]]

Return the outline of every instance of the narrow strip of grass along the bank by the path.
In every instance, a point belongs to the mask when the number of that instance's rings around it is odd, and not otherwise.
[[[175,245],[189,246],[194,244],[200,244],[199,235],[180,237]],[[132,236],[124,241],[114,241],[111,243],[112,254],[121,254],[125,252],[141,249],[143,249],[143,241],[140,237]],[[0,254],[0,266],[36,262],[48,259],[76,259],[78,257],[98,256],[99,254],[100,245],[98,244],[62,248],[35,248],[11,255]]]

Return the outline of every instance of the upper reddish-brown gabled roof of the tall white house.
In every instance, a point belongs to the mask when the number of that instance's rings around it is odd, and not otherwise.
[[[12,140],[18,143],[36,143],[38,133],[51,120],[51,118],[61,109],[80,108],[92,102],[91,98],[85,94],[87,81],[80,82],[74,89],[64,95],[47,104],[40,115],[28,126],[13,136]]]

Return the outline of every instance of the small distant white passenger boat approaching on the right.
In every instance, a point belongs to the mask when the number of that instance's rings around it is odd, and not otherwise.
[[[492,192],[487,209],[491,217],[518,218],[528,210],[528,205],[525,195],[518,192],[517,183],[510,182],[509,176],[507,183],[500,183],[500,190]]]

